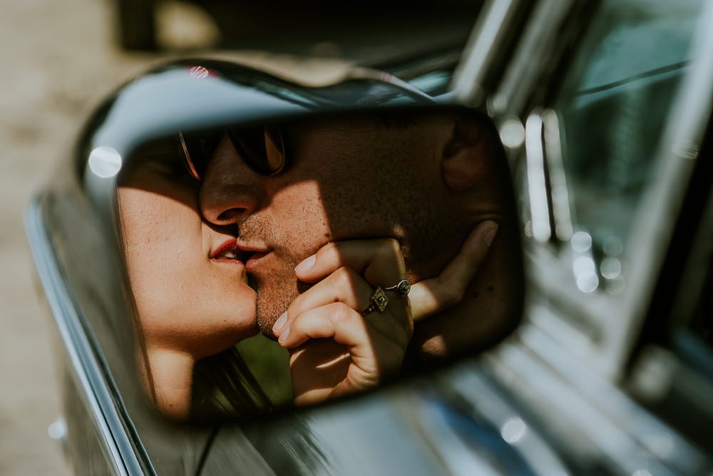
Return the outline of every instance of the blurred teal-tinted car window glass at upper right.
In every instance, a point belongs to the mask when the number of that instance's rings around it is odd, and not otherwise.
[[[701,2],[605,1],[553,103],[578,288],[626,288],[632,222],[689,62]]]

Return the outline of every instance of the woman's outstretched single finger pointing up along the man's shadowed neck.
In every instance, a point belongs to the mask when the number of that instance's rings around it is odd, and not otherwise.
[[[497,232],[498,224],[494,221],[479,224],[440,275],[411,286],[409,299],[414,321],[428,318],[463,299],[468,284],[488,256]]]

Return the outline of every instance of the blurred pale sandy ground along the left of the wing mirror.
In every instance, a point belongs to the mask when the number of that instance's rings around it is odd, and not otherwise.
[[[48,425],[60,413],[23,213],[98,98],[155,54],[114,41],[101,0],[4,1],[0,14],[0,475],[70,474]]]

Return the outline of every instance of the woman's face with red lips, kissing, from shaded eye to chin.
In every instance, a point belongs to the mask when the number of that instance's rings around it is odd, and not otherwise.
[[[122,171],[118,211],[130,287],[147,350],[195,359],[257,332],[255,291],[232,253],[235,234],[198,213],[198,187],[170,144]]]

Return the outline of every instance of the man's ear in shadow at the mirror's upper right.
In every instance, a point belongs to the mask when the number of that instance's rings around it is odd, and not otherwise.
[[[472,118],[456,117],[443,147],[443,181],[454,192],[471,188],[488,169],[486,129]]]

